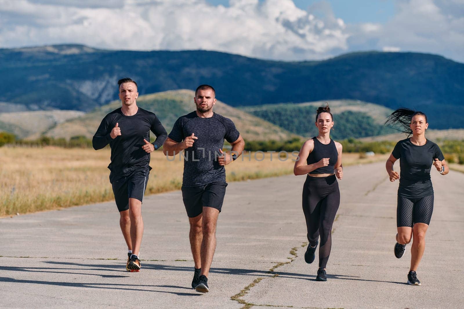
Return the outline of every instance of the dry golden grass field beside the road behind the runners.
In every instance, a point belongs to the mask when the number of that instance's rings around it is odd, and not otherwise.
[[[388,155],[344,154],[343,165],[386,160]],[[168,161],[161,152],[151,155],[147,194],[177,190],[182,182],[183,162]],[[277,154],[251,153],[226,166],[227,181],[291,174],[291,155],[280,161]],[[173,160],[171,157],[170,160]],[[282,160],[284,160],[282,158]],[[109,201],[110,149],[0,148],[0,217],[62,207]],[[116,208],[115,208],[116,209]]]

